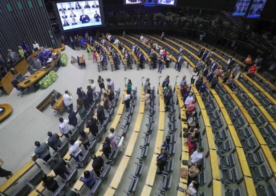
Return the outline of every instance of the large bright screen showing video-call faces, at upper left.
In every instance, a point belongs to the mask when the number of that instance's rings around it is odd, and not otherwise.
[[[57,3],[63,30],[102,25],[99,1]]]

